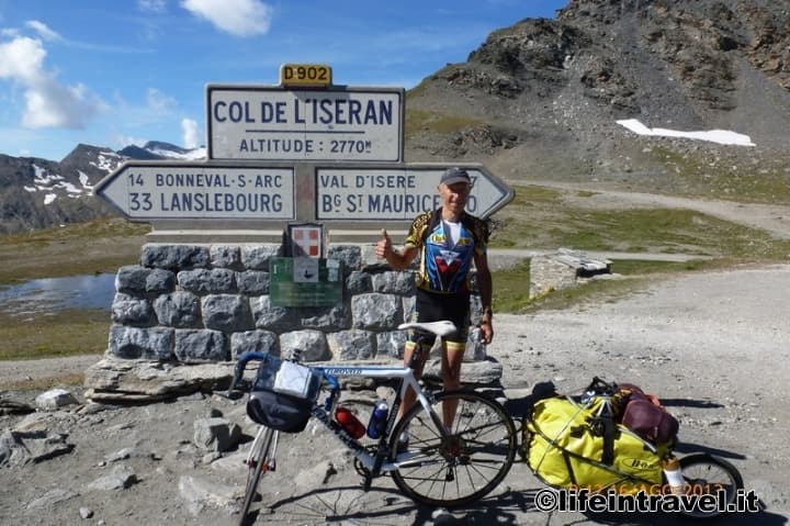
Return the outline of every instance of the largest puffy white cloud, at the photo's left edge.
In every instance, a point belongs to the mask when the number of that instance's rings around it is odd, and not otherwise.
[[[44,69],[46,49],[41,40],[16,36],[0,43],[0,79],[24,87],[22,125],[40,127],[83,127],[106,105],[83,85],[60,85]]]

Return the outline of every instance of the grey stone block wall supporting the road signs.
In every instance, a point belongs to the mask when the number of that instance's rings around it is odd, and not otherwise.
[[[342,304],[281,307],[269,295],[269,262],[281,254],[279,245],[145,245],[140,265],[115,278],[106,354],[179,363],[227,361],[246,350],[298,349],[304,361],[402,358],[406,334],[397,326],[414,310],[411,270],[382,265],[371,245],[331,246],[328,258],[343,264]],[[471,304],[474,325],[479,296]],[[485,359],[476,336],[469,361]]]

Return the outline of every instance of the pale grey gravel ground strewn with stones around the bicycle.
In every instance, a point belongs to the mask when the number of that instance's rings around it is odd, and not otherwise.
[[[569,392],[596,374],[658,394],[681,422],[680,454],[702,450],[726,458],[766,506],[758,515],[730,515],[715,524],[782,525],[790,512],[790,418],[782,396],[790,371],[789,281],[790,265],[745,267],[655,283],[616,302],[498,315],[489,355],[504,365],[503,384],[514,407],[537,382],[552,380]],[[0,379],[83,369],[97,359],[48,361],[41,368],[5,362]],[[35,394],[2,398],[30,402]],[[79,391],[75,394],[81,400]],[[218,460],[196,450],[193,422],[211,410],[253,433],[242,405],[217,396],[49,414],[46,427],[68,435],[74,450],[0,468],[0,525],[235,524],[245,481],[240,457],[248,444]],[[0,416],[0,430],[21,418]],[[135,473],[136,483],[97,486],[122,467]],[[515,465],[488,499],[449,513],[414,505],[388,478],[375,480],[364,493],[339,443],[312,426],[281,443],[278,471],[261,488],[263,502],[256,506],[264,511],[256,524],[685,524],[674,515],[539,512],[533,497],[544,486],[523,463]],[[184,496],[195,494],[202,496]]]

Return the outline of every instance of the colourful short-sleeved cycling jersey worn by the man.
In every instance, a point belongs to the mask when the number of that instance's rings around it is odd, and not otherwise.
[[[417,216],[406,236],[406,247],[420,249],[417,287],[430,292],[469,292],[474,254],[486,253],[488,227],[466,213],[461,217],[459,238],[453,246],[444,232],[441,209]]]

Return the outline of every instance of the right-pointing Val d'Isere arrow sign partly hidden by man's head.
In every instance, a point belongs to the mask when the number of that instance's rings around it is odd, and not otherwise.
[[[487,217],[514,198],[514,191],[482,166],[461,166],[473,188],[466,211]],[[318,220],[413,220],[441,206],[437,193],[445,166],[400,165],[316,169]]]

